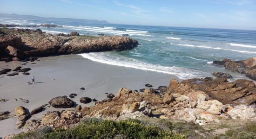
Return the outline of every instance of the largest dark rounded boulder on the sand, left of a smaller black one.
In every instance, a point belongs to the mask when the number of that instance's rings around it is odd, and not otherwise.
[[[67,97],[58,96],[49,101],[49,104],[55,108],[69,108],[74,107],[74,101]]]

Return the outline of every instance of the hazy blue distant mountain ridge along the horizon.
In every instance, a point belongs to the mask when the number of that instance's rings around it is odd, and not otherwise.
[[[82,22],[82,23],[101,23],[109,24],[106,20],[93,20],[93,19],[71,19],[71,18],[45,18],[34,15],[19,15],[19,14],[7,14],[0,13],[0,18],[10,18],[10,19],[38,19],[38,20],[52,20],[52,21],[72,21],[72,22]]]

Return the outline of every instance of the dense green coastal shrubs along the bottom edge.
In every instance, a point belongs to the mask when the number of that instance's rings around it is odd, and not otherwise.
[[[19,134],[14,139],[186,139],[184,135],[140,120],[85,119],[77,126],[52,130],[43,127],[34,132]]]

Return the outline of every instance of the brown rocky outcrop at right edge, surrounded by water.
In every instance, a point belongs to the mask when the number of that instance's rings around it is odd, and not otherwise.
[[[223,65],[225,69],[229,69],[256,80],[256,57],[251,57],[244,61],[231,61],[224,59],[223,61],[214,61],[213,64]]]

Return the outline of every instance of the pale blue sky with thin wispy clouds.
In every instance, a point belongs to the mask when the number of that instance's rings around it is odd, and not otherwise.
[[[256,30],[256,0],[0,0],[0,13]]]

